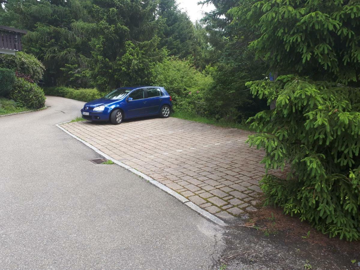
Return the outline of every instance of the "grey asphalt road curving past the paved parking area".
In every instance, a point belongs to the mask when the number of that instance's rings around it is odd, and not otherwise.
[[[0,118],[0,269],[209,269],[222,229],[55,124],[84,102]]]

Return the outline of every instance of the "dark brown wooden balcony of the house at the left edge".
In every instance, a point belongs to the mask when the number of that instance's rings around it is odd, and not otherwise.
[[[0,53],[15,54],[21,51],[21,36],[26,33],[24,30],[0,25]]]

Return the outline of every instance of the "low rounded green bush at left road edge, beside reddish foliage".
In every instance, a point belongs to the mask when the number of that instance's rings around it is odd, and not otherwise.
[[[23,78],[16,78],[10,98],[29,109],[40,109],[45,105],[44,91],[36,84],[27,82]]]

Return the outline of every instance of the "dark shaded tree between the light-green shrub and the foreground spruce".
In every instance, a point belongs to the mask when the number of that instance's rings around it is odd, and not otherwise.
[[[215,10],[202,19],[206,23],[207,40],[211,44],[211,67],[207,69],[215,83],[205,99],[209,112],[230,121],[244,121],[266,108],[266,103],[253,98],[245,83],[264,78],[266,63],[255,59],[248,49],[257,33],[233,23],[228,10],[238,1],[206,0]]]

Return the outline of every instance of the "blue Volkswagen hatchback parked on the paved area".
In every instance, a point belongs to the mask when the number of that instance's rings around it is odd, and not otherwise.
[[[82,118],[91,121],[110,121],[114,125],[124,119],[159,115],[170,116],[171,96],[164,87],[121,87],[111,93],[90,101],[81,109]]]

